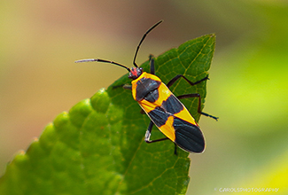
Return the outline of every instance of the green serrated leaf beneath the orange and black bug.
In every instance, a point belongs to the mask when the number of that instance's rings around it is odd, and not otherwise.
[[[165,83],[176,74],[191,82],[204,78],[214,42],[214,35],[204,35],[165,52],[155,58],[156,74]],[[149,71],[148,61],[143,67]],[[131,91],[113,89],[129,82],[126,74],[69,113],[60,113],[27,152],[7,165],[0,194],[184,194],[189,153],[179,149],[176,156],[170,141],[144,142],[148,117],[140,113]],[[206,82],[190,86],[179,80],[171,90],[176,96],[198,92],[204,101]],[[197,99],[183,103],[198,121]],[[163,135],[155,128],[152,139],[157,137]]]

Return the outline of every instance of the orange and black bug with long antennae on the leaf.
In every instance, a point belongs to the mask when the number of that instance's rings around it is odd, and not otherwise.
[[[197,122],[191,116],[191,113],[189,113],[187,108],[179,99],[198,98],[198,113],[211,117],[216,121],[218,117],[201,112],[201,98],[198,93],[175,97],[169,88],[180,78],[183,78],[192,86],[206,81],[208,77],[205,77],[198,82],[191,82],[184,75],[178,74],[168,82],[167,85],[165,85],[161,82],[160,78],[155,75],[154,59],[152,58],[152,55],[150,56],[150,74],[145,73],[142,67],[136,65],[136,56],[144,38],[161,22],[162,20],[150,27],[143,35],[136,48],[136,53],[133,59],[133,65],[135,67],[132,67],[131,69],[119,63],[100,58],[80,59],[75,62],[105,62],[124,67],[128,70],[128,78],[133,80],[131,82],[132,85],[123,85],[122,87],[127,90],[132,90],[133,98],[141,106],[144,113],[146,113],[151,119],[144,138],[146,143],[154,143],[170,139],[175,143],[175,154],[176,145],[186,152],[203,152],[205,149],[204,136],[199,129]],[[151,140],[150,136],[153,125],[156,125],[166,137]]]

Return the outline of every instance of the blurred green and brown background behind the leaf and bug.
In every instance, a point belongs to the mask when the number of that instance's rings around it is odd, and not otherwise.
[[[74,60],[132,66],[141,36],[164,20],[145,40],[138,64],[150,53],[217,35],[204,110],[220,120],[200,120],[206,152],[191,154],[187,194],[288,193],[287,1],[12,0],[0,11],[0,175],[58,113],[126,74]]]

